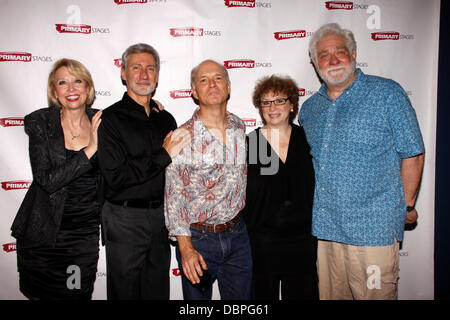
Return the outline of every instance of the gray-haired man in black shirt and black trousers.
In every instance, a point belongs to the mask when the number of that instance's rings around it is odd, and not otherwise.
[[[189,143],[152,99],[160,60],[147,44],[122,55],[127,92],[103,111],[98,159],[108,299],[169,299],[170,246],[164,225],[164,170]]]

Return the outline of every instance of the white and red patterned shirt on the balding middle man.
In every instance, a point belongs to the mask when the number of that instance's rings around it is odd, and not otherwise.
[[[166,168],[165,221],[169,236],[190,236],[190,224],[222,224],[245,206],[245,124],[227,112],[226,144],[206,128],[198,109],[185,124],[191,144]]]

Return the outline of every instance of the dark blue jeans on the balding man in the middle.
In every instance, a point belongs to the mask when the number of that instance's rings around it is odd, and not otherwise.
[[[244,219],[230,230],[214,232],[191,227],[192,244],[208,266],[212,282],[217,279],[222,300],[249,300],[252,282],[252,256]],[[212,285],[203,293],[184,276],[177,246],[178,266],[182,274],[185,300],[211,300]]]

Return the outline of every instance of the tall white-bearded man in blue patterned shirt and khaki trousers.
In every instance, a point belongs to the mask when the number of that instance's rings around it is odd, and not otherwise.
[[[309,52],[323,80],[303,103],[316,173],[312,233],[321,299],[397,299],[399,242],[417,220],[424,144],[409,98],[356,68],[353,33],[320,27]]]

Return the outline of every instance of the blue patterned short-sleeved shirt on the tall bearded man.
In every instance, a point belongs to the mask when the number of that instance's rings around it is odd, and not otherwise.
[[[324,83],[303,103],[299,122],[316,172],[313,234],[361,246],[401,241],[401,160],[424,152],[402,87],[357,69],[355,81],[334,101]]]

